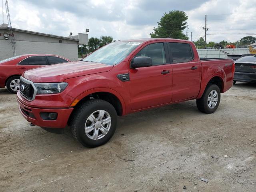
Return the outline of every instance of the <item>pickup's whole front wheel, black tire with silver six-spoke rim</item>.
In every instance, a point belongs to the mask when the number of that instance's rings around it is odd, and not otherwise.
[[[116,130],[114,106],[100,99],[88,100],[74,109],[70,130],[82,145],[97,147],[110,140]]]

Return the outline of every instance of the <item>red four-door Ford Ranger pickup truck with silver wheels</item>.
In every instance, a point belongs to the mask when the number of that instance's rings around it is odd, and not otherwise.
[[[118,41],[81,61],[24,72],[17,100],[32,124],[52,132],[69,125],[80,143],[96,147],[110,140],[117,116],[193,99],[213,113],[234,71],[232,59],[200,60],[190,41]]]

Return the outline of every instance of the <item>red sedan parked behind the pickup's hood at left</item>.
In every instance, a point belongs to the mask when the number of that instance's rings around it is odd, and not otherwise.
[[[0,61],[0,88],[7,87],[11,93],[17,93],[20,89],[20,76],[26,70],[70,62],[70,60],[58,55],[27,54],[8,58]]]

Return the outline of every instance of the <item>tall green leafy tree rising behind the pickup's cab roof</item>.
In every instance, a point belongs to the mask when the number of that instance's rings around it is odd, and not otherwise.
[[[186,39],[182,32],[186,28],[188,16],[184,11],[173,10],[164,13],[158,22],[157,28],[153,28],[154,32],[150,33],[151,38],[176,38]]]

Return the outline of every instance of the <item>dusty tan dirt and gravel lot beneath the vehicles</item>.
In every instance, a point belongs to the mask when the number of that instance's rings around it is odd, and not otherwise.
[[[256,84],[234,85],[214,114],[188,101],[121,117],[93,149],[30,126],[2,89],[0,191],[255,192]]]

